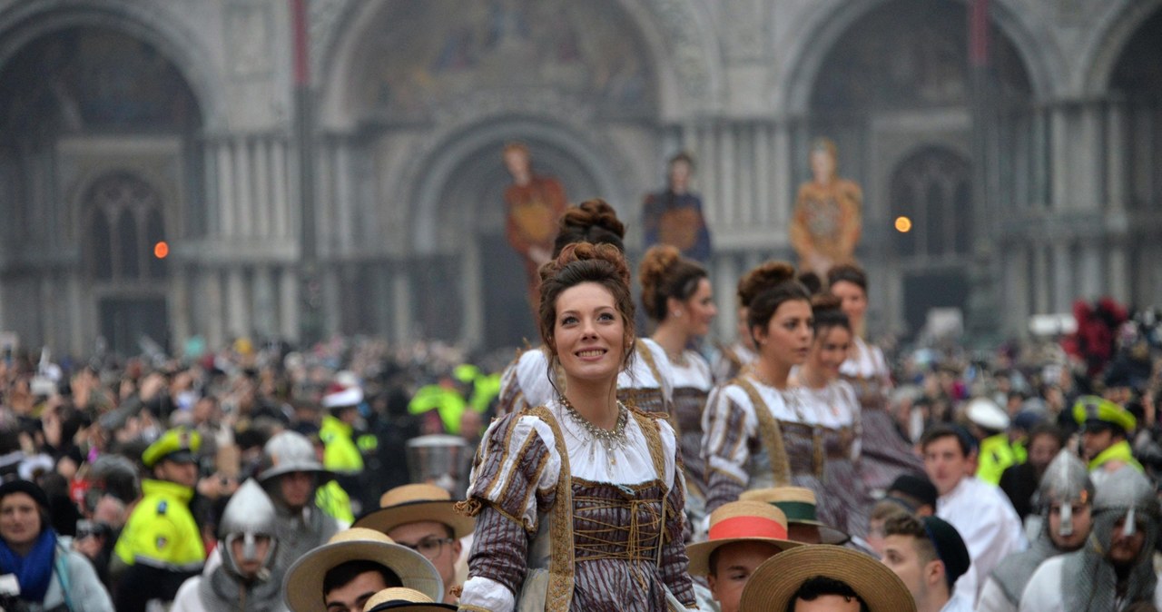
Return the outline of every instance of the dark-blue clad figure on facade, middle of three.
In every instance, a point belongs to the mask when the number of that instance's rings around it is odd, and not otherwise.
[[[646,196],[641,225],[646,249],[668,244],[682,255],[705,262],[710,259],[710,230],[702,216],[702,197],[689,190],[691,174],[694,159],[689,153],[669,159],[668,185]]]

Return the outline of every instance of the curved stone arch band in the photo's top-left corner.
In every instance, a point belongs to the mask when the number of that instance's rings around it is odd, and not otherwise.
[[[0,69],[28,43],[57,30],[95,27],[149,43],[181,73],[201,110],[202,130],[227,128],[225,88],[207,58],[214,55],[179,21],[155,3],[113,0],[20,2],[0,14]]]

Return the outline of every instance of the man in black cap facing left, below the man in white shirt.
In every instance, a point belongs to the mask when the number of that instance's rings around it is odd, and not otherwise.
[[[905,514],[888,520],[884,534],[880,560],[904,581],[919,612],[973,612],[971,602],[953,593],[971,563],[956,527]]]

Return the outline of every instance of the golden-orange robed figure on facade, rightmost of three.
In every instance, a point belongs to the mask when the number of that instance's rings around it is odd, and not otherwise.
[[[855,264],[860,242],[863,192],[860,186],[835,174],[835,143],[820,138],[811,145],[813,179],[799,186],[791,217],[791,246],[799,257],[799,269],[820,279],[839,264]]]

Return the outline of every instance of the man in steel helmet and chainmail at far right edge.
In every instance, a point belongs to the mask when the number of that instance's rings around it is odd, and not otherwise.
[[[1154,604],[1152,563],[1159,534],[1154,485],[1133,469],[1106,476],[1093,497],[1093,528],[1085,545],[1046,560],[1021,593],[1021,612],[1096,612]]]

